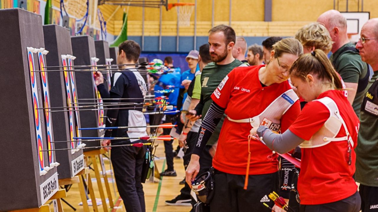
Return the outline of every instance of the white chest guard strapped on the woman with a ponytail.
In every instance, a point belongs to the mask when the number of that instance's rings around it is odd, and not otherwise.
[[[319,131],[315,132],[310,140],[304,141],[299,146],[301,148],[314,148],[324,146],[331,141],[348,141],[348,144],[352,145],[353,147],[354,142],[352,137],[350,137],[347,126],[340,115],[339,108],[337,107],[335,101],[329,97],[324,97],[314,101],[319,101],[324,104],[330,111],[330,117],[327,119],[327,121],[325,121],[324,125],[319,129]],[[339,133],[341,126],[344,128],[346,136],[335,138]]]

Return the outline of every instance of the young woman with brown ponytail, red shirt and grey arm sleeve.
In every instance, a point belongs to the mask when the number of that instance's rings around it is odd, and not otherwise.
[[[361,198],[353,179],[359,120],[342,89],[341,80],[323,51],[302,55],[290,78],[308,103],[283,134],[260,126],[251,134],[278,153],[300,145],[298,191],[301,212],[358,212]]]

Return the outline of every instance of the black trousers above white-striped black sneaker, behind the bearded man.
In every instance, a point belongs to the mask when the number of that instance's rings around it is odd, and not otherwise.
[[[189,165],[190,158],[192,156],[192,152],[194,149],[195,141],[197,138],[197,134],[198,132],[188,132],[187,134],[186,145],[188,148],[186,149],[186,151],[184,151],[184,156],[183,156],[185,170]],[[185,182],[185,186],[180,190],[180,196],[183,198],[186,198],[187,200],[190,200],[191,199],[190,191],[191,189],[189,185]]]

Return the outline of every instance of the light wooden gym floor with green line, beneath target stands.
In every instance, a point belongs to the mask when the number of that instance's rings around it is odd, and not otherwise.
[[[159,169],[159,172],[163,170],[163,167],[166,167],[165,163],[165,154],[164,154],[164,144],[163,141],[156,141],[156,144],[159,144],[158,147],[156,147],[156,156],[159,158],[156,158],[156,166]],[[174,141],[174,148],[177,147],[178,141]],[[99,162],[98,162],[99,163]],[[178,194],[180,194],[180,189],[183,187],[183,185],[180,185],[179,182],[183,180],[185,177],[185,171],[183,166],[183,160],[180,158],[174,159],[174,165],[175,170],[177,172],[177,177],[163,177],[163,180],[158,180],[155,178],[155,182],[151,182],[149,180],[146,181],[146,183],[143,184],[144,187],[144,197],[146,200],[146,212],[189,212],[191,210],[190,206],[168,206],[165,204],[166,200],[171,200],[175,198]],[[99,164],[100,167],[100,164]],[[107,170],[110,170],[110,163],[109,160],[105,160],[105,167]],[[95,196],[96,198],[100,199],[100,194],[98,192],[98,186],[96,183],[96,178],[93,170],[91,170],[91,177],[93,182],[93,189],[95,190]],[[108,174],[108,178],[110,178],[110,174]],[[103,180],[103,179],[102,179]],[[104,183],[102,183],[104,189]],[[115,185],[115,189],[117,189]],[[114,188],[113,184],[110,183],[110,190],[112,190],[113,200],[116,202],[116,198],[119,198],[118,192],[117,194],[114,194]],[[105,191],[105,197],[107,198],[106,191]],[[64,198],[68,203],[70,203],[73,207],[76,208],[76,212],[83,212],[83,207],[79,206],[78,204],[81,202],[80,194],[79,194],[79,187],[78,184],[73,184],[70,188],[70,190],[67,192],[67,197]],[[63,209],[65,212],[74,211],[70,206],[68,206],[66,203],[62,202]],[[116,203],[115,203],[116,205]],[[107,204],[109,207],[109,204]],[[52,209],[52,206],[50,205],[50,208]],[[93,211],[93,207],[89,206],[90,211]],[[98,209],[100,212],[103,212],[102,206],[98,206]],[[51,210],[53,211],[53,210]],[[119,203],[119,207],[115,209],[109,208],[109,212],[124,212],[125,207],[122,203],[122,201]]]

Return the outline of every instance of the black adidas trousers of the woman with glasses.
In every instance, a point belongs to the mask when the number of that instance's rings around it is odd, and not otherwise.
[[[263,203],[273,207],[268,195],[278,189],[278,172],[249,175],[248,187],[244,190],[245,175],[227,174],[215,170],[214,198],[211,212],[271,212]],[[266,197],[265,197],[266,196]]]

